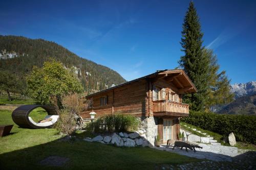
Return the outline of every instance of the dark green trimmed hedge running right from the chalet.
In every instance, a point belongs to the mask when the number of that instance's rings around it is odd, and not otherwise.
[[[256,143],[256,116],[230,115],[190,111],[181,121],[204,130],[227,136],[231,132],[237,141]]]

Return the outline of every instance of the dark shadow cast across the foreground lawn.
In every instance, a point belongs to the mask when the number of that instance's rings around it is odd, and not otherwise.
[[[81,136],[84,134],[80,134]],[[199,161],[148,147],[115,147],[110,144],[83,141],[78,137],[71,140],[63,137],[33,147],[3,153],[0,155],[0,169],[154,169],[159,164],[175,165]],[[23,144],[22,141],[19,142]],[[51,162],[40,163],[50,156],[68,161],[62,166],[54,166]]]

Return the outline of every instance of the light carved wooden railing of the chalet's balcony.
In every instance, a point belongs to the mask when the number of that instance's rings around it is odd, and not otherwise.
[[[189,105],[172,101],[153,101],[153,112],[189,113]]]

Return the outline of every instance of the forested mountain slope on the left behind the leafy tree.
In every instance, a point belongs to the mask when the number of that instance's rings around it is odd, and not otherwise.
[[[73,67],[88,93],[126,82],[118,72],[81,58],[55,42],[0,35],[0,69],[23,77],[20,81],[25,81],[24,77],[30,74],[34,65],[41,67],[50,59],[62,62],[65,67]]]

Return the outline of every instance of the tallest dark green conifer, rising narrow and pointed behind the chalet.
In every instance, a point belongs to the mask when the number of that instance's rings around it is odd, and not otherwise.
[[[203,53],[203,33],[194,3],[190,2],[186,12],[181,46],[185,55],[181,57],[179,64],[198,89],[197,93],[184,95],[184,102],[190,104],[191,110],[204,110],[206,103],[207,72],[209,71],[209,59]]]

